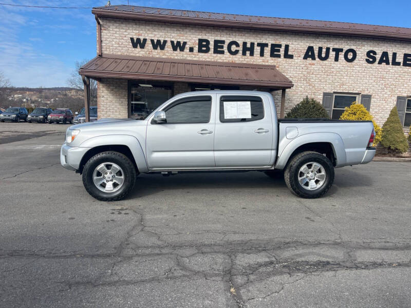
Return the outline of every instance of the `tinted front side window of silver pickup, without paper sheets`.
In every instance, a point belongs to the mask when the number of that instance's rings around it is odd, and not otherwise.
[[[167,106],[165,119],[169,124],[209,123],[211,114],[211,97],[194,97],[178,100]]]

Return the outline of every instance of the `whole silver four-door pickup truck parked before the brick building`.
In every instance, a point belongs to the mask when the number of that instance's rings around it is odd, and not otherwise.
[[[143,120],[71,126],[60,160],[102,201],[124,198],[140,173],[204,170],[283,170],[295,195],[318,198],[334,168],[372,160],[374,137],[371,121],[277,120],[270,93],[200,91],[176,95]]]

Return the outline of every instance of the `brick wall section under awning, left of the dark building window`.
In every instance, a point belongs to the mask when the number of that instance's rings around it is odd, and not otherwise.
[[[97,84],[98,118],[127,118],[127,81],[102,79]]]

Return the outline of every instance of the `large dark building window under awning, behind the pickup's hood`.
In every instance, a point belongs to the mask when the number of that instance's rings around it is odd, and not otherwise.
[[[173,96],[171,86],[131,83],[129,86],[130,117],[145,119],[158,106]]]

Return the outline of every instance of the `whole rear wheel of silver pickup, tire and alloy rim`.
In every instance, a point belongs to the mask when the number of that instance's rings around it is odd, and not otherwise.
[[[288,188],[302,198],[323,196],[334,182],[334,167],[324,155],[313,151],[298,153],[284,171]]]

